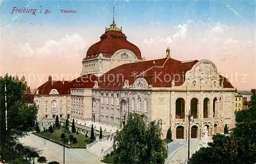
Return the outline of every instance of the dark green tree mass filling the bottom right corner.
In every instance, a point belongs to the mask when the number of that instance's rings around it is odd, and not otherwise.
[[[255,98],[255,93],[252,99]],[[207,148],[192,155],[191,163],[255,163],[256,162],[256,101],[248,110],[236,112],[236,128],[229,136],[217,134]]]

